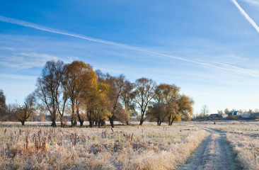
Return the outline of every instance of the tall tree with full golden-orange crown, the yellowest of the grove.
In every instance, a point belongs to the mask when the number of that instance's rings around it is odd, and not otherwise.
[[[71,126],[75,126],[78,119],[82,127],[86,116],[81,106],[86,100],[86,94],[91,94],[97,86],[96,73],[90,64],[74,61],[64,66],[64,77],[64,94],[68,96],[71,105]]]

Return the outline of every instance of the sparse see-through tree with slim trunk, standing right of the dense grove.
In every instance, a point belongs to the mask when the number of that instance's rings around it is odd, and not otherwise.
[[[156,82],[151,79],[141,78],[137,79],[135,83],[134,102],[137,103],[141,111],[141,118],[139,125],[143,125],[150,101],[154,98],[154,90],[156,88]]]

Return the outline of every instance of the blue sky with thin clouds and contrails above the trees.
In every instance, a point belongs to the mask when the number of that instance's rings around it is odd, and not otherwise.
[[[176,84],[195,113],[259,108],[259,1],[3,1],[0,89],[23,102],[48,60]]]

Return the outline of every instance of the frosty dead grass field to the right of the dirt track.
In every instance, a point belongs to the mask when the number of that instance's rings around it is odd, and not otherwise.
[[[236,152],[236,159],[243,169],[259,169],[259,122],[226,121],[205,126],[226,132],[226,140]]]

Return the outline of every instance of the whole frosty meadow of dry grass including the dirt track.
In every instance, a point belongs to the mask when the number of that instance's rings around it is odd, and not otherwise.
[[[258,169],[258,122],[0,125],[0,169]]]

